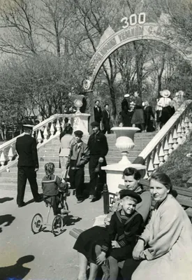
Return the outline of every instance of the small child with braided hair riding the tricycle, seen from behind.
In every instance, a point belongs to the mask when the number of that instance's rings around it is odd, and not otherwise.
[[[70,211],[67,209],[59,209],[61,202],[61,192],[68,193],[68,183],[59,176],[54,175],[54,164],[48,162],[45,165],[45,176],[42,180],[43,200],[47,200],[52,205],[54,215],[68,214]],[[59,192],[61,191],[61,192]]]

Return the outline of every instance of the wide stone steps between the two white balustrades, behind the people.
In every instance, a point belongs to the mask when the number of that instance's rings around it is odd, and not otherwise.
[[[128,154],[128,159],[133,162],[145,146],[152,140],[156,132],[149,133],[136,133],[135,134],[135,147],[133,151]],[[109,152],[106,157],[108,165],[114,164],[121,160],[121,152],[117,150],[115,146],[116,137],[115,134],[107,134]],[[87,143],[88,137],[84,137],[83,141]],[[37,181],[39,190],[41,189],[41,180],[45,175],[44,165],[47,162],[53,162],[56,170],[55,174],[61,174],[59,169],[59,136],[52,139],[52,141],[45,144],[38,150],[39,170],[37,173]],[[88,165],[85,167],[85,182],[89,182],[89,170]],[[10,172],[3,171],[0,173],[0,189],[16,190],[17,189],[17,165],[10,167]],[[26,190],[30,190],[29,183],[27,182]]]

